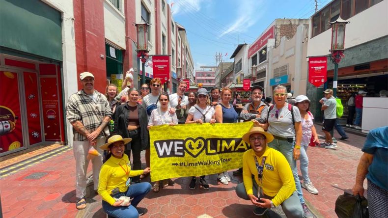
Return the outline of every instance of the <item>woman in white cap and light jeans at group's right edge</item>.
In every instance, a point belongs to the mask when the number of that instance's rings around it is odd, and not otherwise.
[[[298,107],[301,112],[302,119],[302,141],[301,141],[301,157],[300,157],[300,168],[302,172],[303,183],[302,187],[308,192],[318,194],[318,190],[314,187],[308,176],[308,157],[307,148],[310,143],[311,137],[313,137],[314,143],[319,143],[318,134],[315,129],[313,119],[314,116],[310,112],[310,100],[305,95],[299,95],[296,97],[295,106]]]

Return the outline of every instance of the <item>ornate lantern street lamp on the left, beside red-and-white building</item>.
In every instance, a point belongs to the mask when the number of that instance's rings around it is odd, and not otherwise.
[[[137,41],[137,50],[138,57],[141,60],[141,84],[145,83],[145,61],[148,59],[148,27],[150,25],[148,23],[144,24],[135,24],[136,33],[138,37]]]

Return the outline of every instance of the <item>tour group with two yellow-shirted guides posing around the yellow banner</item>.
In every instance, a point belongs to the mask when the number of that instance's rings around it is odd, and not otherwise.
[[[94,76],[89,72],[82,73],[80,81],[83,89],[70,96],[66,109],[74,130],[78,209],[86,207],[86,169],[90,150],[95,149],[100,154],[91,161],[94,190],[103,198],[104,211],[114,217],[137,217],[143,214],[137,208],[139,201],[149,191],[158,192],[170,183],[168,179],[156,181],[152,186],[141,182],[151,171],[149,130],[152,127],[243,120],[253,122],[254,127],[243,136],[243,140],[251,145],[244,154],[243,167],[233,172],[234,175],[242,174],[244,179],[244,183],[236,188],[237,195],[257,206],[253,211],[256,215],[264,213],[263,208],[281,205],[287,217],[312,216],[302,188],[318,193],[308,176],[306,150],[310,141],[318,143],[319,140],[314,117],[309,111],[310,100],[306,96],[297,96],[295,105],[291,105],[286,102],[286,87],[278,85],[274,89],[273,105],[271,100],[266,104],[262,101],[263,88],[253,86],[251,102],[238,114],[234,105],[239,103],[233,101],[232,90],[227,87],[214,87],[210,93],[200,88],[186,96],[187,83],[182,81],[177,93],[168,95],[161,90],[161,80],[154,78],[149,85],[141,85],[141,90],[128,88],[123,102],[117,99],[117,87],[113,84],[108,85],[106,95],[96,91]],[[322,109],[326,110],[324,106]],[[108,130],[110,120],[114,122],[111,133]],[[324,125],[324,131],[328,129],[327,125]],[[330,139],[328,143],[331,143]],[[142,150],[145,150],[145,169],[141,169]],[[102,154],[105,154],[104,164]],[[301,162],[302,184],[297,160]],[[218,180],[227,185],[229,173],[219,172]],[[193,176],[189,188],[195,189],[196,184],[197,179]],[[209,189],[205,175],[199,177],[199,184],[203,189]]]

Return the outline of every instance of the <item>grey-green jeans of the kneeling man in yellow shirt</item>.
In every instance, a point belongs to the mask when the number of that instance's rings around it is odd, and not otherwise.
[[[244,183],[240,183],[236,186],[236,194],[240,198],[243,198],[245,200],[249,200],[247,191],[245,190]],[[253,195],[257,196],[257,184],[256,181],[253,179]],[[268,196],[264,194],[264,196],[260,196],[262,198],[272,199],[274,197]],[[298,195],[294,191],[291,196],[289,196],[287,199],[285,199],[281,204],[281,208],[283,209],[284,214],[287,218],[301,218],[303,216],[303,209],[302,205],[299,203]]]

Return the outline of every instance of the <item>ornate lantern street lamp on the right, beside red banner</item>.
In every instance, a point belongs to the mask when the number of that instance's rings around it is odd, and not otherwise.
[[[332,26],[332,43],[330,53],[334,64],[334,78],[333,78],[333,96],[337,96],[337,80],[338,80],[338,63],[344,57],[345,51],[345,26],[349,21],[342,20],[338,17],[336,21],[330,22]]]

